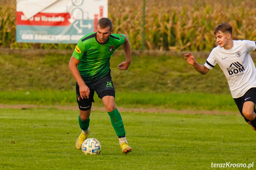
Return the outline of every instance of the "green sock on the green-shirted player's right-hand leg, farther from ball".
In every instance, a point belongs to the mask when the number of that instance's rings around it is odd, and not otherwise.
[[[111,112],[108,112],[108,114],[117,136],[125,136],[125,128],[119,111],[115,109]]]

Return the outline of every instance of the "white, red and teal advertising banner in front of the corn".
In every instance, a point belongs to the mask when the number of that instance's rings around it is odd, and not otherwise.
[[[16,41],[76,44],[107,14],[107,0],[17,0]]]

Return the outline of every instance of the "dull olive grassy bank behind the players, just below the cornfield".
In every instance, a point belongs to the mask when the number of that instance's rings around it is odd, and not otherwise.
[[[73,50],[12,50],[0,51],[0,91],[75,89],[75,79],[68,63]],[[214,67],[207,75],[201,75],[189,65],[186,52],[146,56],[132,55],[128,70],[119,70],[125,61],[122,53],[115,52],[110,59],[112,81],[117,92],[126,93],[211,93],[230,94],[222,70]],[[193,53],[198,63],[204,64],[205,53]]]

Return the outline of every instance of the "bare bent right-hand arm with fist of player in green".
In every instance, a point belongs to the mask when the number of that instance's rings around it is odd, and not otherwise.
[[[129,65],[131,64],[131,46],[130,46],[128,37],[126,35],[124,35],[124,36],[125,36],[125,42],[122,46],[123,46],[123,50],[125,52],[126,61],[124,61],[118,65],[118,68],[120,70],[127,70]]]

